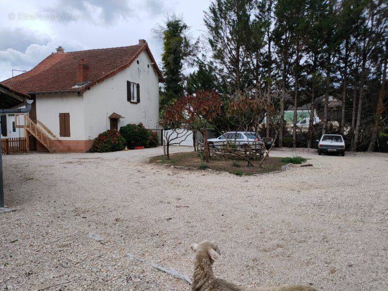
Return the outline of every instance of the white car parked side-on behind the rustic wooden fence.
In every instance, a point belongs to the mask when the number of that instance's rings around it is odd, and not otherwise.
[[[220,135],[217,138],[208,139],[208,144],[209,146],[220,147],[226,145],[228,142],[243,147],[247,146],[248,144],[251,145],[255,141],[261,141],[260,136],[257,135],[256,132],[230,131]]]

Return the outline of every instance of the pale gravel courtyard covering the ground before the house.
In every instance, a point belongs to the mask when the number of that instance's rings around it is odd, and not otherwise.
[[[204,239],[247,287],[388,290],[388,154],[274,150],[313,166],[238,177],[147,162],[161,152],[3,156],[0,290],[190,290],[150,263],[191,277]]]

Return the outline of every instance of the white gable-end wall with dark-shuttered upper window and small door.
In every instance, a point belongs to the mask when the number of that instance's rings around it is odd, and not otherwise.
[[[83,93],[86,140],[94,139],[98,133],[110,129],[108,116],[113,112],[125,117],[119,119],[119,129],[128,123],[139,122],[143,122],[148,129],[159,128],[158,75],[145,51],[137,60],[125,70]],[[140,84],[140,103],[127,101],[127,81]]]

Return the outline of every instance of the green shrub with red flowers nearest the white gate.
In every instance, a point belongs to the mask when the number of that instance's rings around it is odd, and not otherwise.
[[[151,137],[150,130],[146,129],[143,123],[122,126],[120,133],[125,138],[128,148],[134,148],[135,146],[147,147]]]

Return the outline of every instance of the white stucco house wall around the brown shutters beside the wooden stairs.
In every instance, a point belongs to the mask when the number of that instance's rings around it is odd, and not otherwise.
[[[83,97],[77,93],[37,94],[36,118],[61,140],[85,140]],[[59,136],[59,113],[70,113],[70,137]]]

